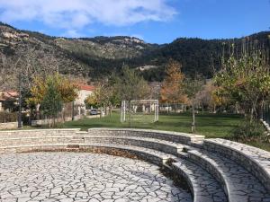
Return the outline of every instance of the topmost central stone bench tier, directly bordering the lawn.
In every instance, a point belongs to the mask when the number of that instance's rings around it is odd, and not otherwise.
[[[177,133],[161,130],[132,129],[132,128],[90,128],[88,134],[91,136],[142,136],[162,139],[170,142],[191,145],[201,144],[204,136]]]

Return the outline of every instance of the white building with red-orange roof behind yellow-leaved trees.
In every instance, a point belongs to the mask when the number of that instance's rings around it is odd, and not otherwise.
[[[79,114],[81,114],[81,112],[85,114],[85,99],[94,92],[94,86],[85,84],[79,84],[78,86],[78,96],[76,98],[76,101],[74,101],[74,104],[78,107]]]

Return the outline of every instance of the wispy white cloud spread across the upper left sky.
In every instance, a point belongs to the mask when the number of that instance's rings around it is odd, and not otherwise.
[[[166,22],[174,17],[171,0],[0,0],[0,21],[40,21],[67,31],[93,22],[126,26]]]

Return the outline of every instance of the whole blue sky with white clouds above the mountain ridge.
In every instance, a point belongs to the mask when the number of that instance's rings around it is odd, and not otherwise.
[[[68,38],[228,39],[269,31],[270,0],[0,0],[0,21]]]

